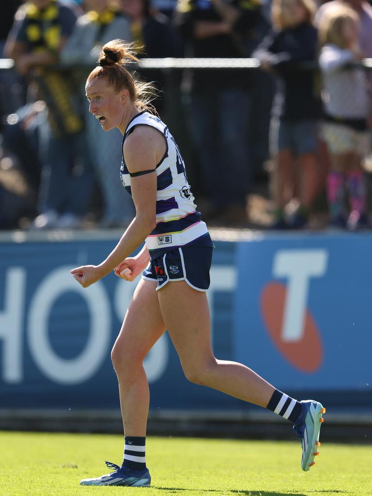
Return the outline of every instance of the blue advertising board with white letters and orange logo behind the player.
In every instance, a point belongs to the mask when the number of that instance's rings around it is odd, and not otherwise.
[[[83,289],[69,273],[116,241],[0,243],[1,408],[119,407],[110,350],[136,282],[112,274]],[[289,392],[356,392],[372,409],[371,248],[371,234],[217,241],[207,293],[217,358]],[[189,383],[167,333],[144,366],[152,409],[250,408]]]

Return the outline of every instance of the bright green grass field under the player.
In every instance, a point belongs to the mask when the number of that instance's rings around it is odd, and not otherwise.
[[[83,487],[121,462],[119,435],[0,433],[0,495],[372,495],[372,446],[323,443],[301,470],[297,442],[148,437],[151,488]]]

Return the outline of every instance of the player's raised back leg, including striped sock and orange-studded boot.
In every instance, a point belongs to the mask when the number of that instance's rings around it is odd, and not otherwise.
[[[210,344],[210,316],[205,293],[186,281],[173,281],[158,291],[160,308],[186,377],[244,401],[268,408],[294,423],[302,445],[301,466],[308,471],[318,454],[325,409],[321,403],[299,402],[278,391],[245,365],[217,360]]]

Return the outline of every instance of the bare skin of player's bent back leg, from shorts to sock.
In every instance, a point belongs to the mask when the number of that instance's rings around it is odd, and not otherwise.
[[[186,281],[158,291],[160,308],[186,377],[197,384],[266,407],[275,388],[245,365],[217,360],[210,343],[206,294]]]

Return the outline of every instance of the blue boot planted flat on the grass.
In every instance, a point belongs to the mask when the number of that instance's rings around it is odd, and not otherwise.
[[[114,472],[102,475],[96,479],[83,479],[80,481],[81,486],[142,486],[148,488],[151,483],[148,468],[144,470],[122,469],[115,463],[105,461],[108,468],[115,468]]]

